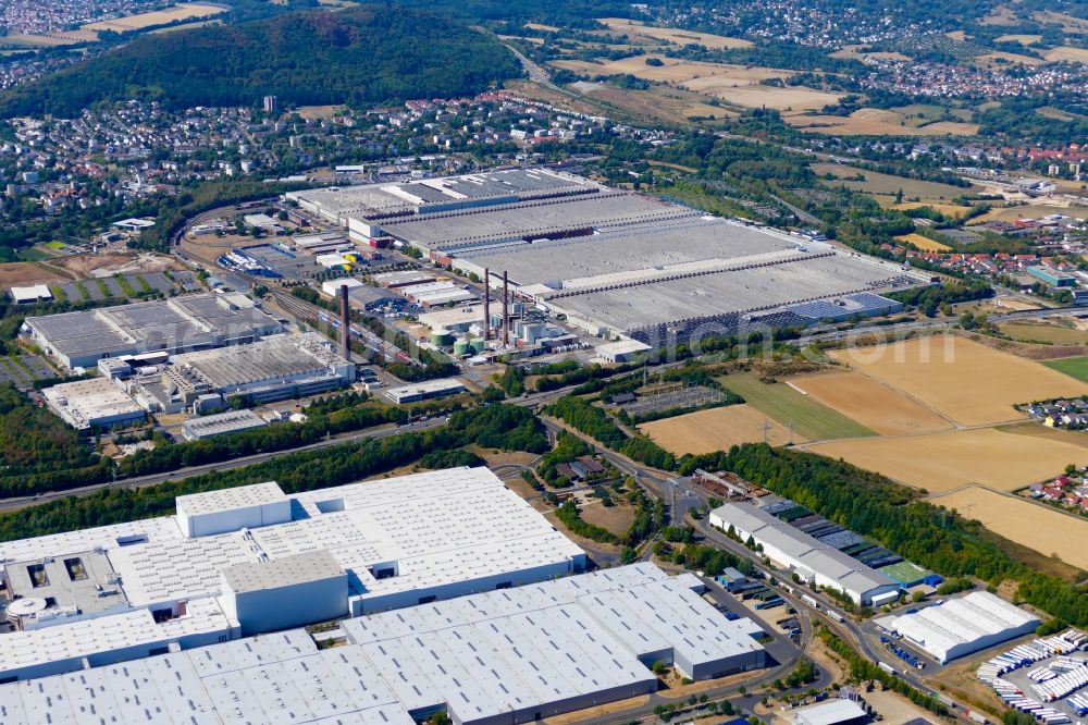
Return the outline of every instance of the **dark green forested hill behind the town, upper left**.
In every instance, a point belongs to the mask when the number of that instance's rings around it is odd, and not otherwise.
[[[168,108],[287,103],[361,106],[458,96],[521,69],[493,38],[428,10],[362,5],[143,36],[0,94],[0,118],[72,118],[99,101]]]

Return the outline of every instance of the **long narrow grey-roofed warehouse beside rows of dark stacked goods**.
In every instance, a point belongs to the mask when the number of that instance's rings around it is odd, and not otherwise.
[[[786,521],[749,503],[727,503],[710,512],[710,525],[732,527],[751,537],[763,552],[803,581],[837,589],[855,604],[881,606],[899,599],[899,583]]]

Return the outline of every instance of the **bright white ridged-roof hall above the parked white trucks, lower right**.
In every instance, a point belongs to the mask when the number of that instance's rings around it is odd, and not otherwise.
[[[986,649],[1033,631],[1039,617],[987,591],[973,591],[914,614],[887,617],[898,631],[939,662]]]

